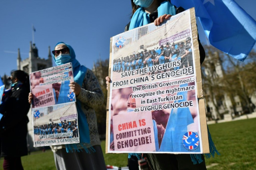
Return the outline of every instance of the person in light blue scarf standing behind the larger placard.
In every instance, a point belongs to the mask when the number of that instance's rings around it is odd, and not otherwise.
[[[131,0],[132,18],[126,25],[125,31],[153,23],[158,26],[164,19],[183,12],[182,7],[176,8],[170,0]],[[198,39],[199,41],[199,39]],[[199,41],[200,63],[205,59],[205,51]],[[106,77],[107,89],[111,82],[110,77]],[[189,154],[146,154],[151,168],[160,169],[206,169],[203,156],[200,163],[193,164]]]

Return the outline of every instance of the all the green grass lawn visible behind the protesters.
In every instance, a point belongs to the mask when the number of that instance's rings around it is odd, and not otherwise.
[[[206,159],[210,170],[256,169],[256,118],[209,125],[209,129],[221,155]],[[105,141],[102,141],[105,152]],[[124,167],[128,154],[104,154],[106,164]],[[3,159],[0,160],[2,169]],[[37,151],[22,157],[24,170],[54,170],[53,152]]]

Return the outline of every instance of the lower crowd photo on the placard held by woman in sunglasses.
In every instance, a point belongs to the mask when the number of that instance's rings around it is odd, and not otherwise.
[[[32,109],[35,144],[62,144],[54,139],[77,138],[78,121],[75,103]],[[51,139],[51,143],[40,143]],[[79,141],[78,141],[79,142]]]

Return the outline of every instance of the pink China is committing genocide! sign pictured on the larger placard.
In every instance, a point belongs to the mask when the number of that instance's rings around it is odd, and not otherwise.
[[[155,151],[151,112],[129,112],[113,116],[114,150]]]

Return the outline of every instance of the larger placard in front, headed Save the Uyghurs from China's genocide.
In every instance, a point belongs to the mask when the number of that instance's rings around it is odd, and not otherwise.
[[[106,153],[209,153],[198,46],[194,8],[111,38]]]

